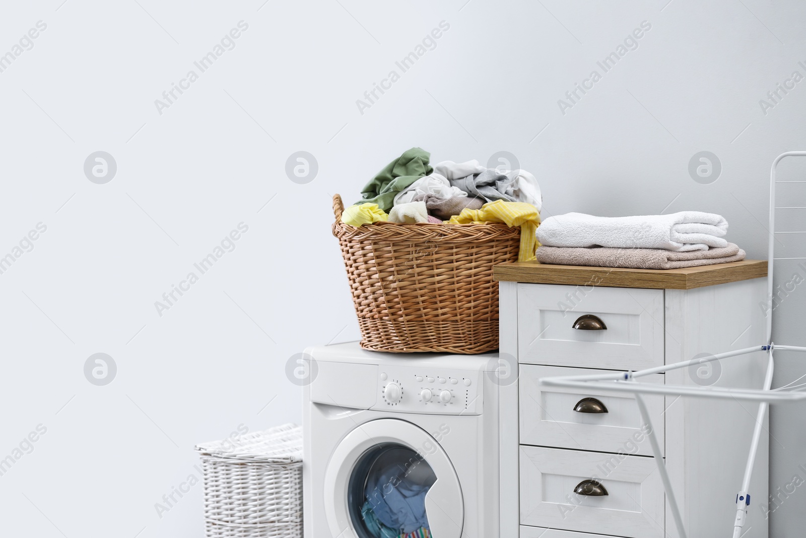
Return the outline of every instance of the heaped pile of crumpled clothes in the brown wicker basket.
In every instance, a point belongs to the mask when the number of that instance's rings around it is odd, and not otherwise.
[[[488,169],[479,161],[430,164],[430,153],[411,148],[364,186],[362,198],[347,207],[351,226],[387,223],[506,223],[521,227],[518,261],[534,260],[542,196],[526,170]]]

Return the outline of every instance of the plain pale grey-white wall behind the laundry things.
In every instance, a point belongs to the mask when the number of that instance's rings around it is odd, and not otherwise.
[[[197,475],[197,442],[300,419],[286,361],[358,336],[330,196],[353,201],[407,148],[434,161],[512,152],[541,182],[544,217],[721,213],[758,258],[770,163],[806,147],[806,81],[759,106],[806,75],[796,0],[61,2],[0,18],[0,54],[47,24],[0,73],[0,256],[47,226],[0,274],[0,458],[47,428],[0,476],[8,536],[202,536],[201,486],[161,517],[155,503]],[[241,20],[235,48],[194,68]],[[395,61],[441,21],[436,48],[401,73]],[[563,94],[642,21],[638,48],[563,115]],[[190,69],[198,80],[160,115],[155,99]],[[392,69],[400,80],[361,114],[356,99]],[[118,166],[103,185],[83,171],[99,150]],[[305,185],[285,173],[297,151],[318,161]],[[689,176],[700,151],[721,161],[713,183]],[[242,222],[235,250],[158,315]],[[777,340],[803,341],[789,319]],[[85,378],[96,352],[117,365],[109,385]],[[806,371],[779,364],[776,385]],[[772,415],[771,490],[806,479],[802,417]],[[804,495],[771,515],[771,536],[803,528]]]

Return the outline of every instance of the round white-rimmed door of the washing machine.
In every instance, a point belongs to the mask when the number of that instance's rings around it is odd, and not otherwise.
[[[356,426],[330,457],[324,487],[334,538],[388,538],[424,529],[438,538],[462,535],[462,487],[451,460],[434,437],[405,420]]]

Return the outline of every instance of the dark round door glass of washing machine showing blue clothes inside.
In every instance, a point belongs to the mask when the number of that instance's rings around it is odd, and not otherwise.
[[[355,462],[347,486],[359,538],[431,536],[426,494],[437,476],[423,457],[396,443],[379,444]]]

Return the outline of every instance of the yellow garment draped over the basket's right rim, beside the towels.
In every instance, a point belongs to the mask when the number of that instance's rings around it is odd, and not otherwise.
[[[540,213],[535,206],[526,202],[505,202],[496,200],[487,202],[481,209],[464,208],[459,215],[454,215],[449,224],[467,223],[505,223],[509,227],[521,227],[521,248],[517,261],[535,260],[534,251],[538,249],[538,238],[535,232],[540,224]]]

